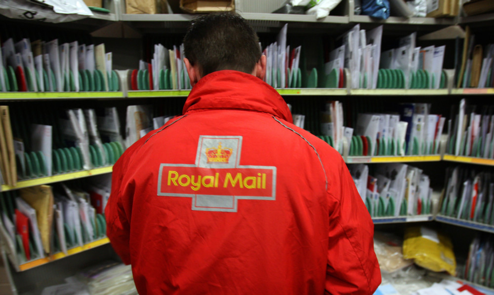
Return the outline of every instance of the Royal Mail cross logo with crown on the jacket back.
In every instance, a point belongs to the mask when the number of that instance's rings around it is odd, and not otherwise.
[[[195,164],[161,164],[158,195],[192,210],[237,212],[238,200],[275,200],[276,167],[239,165],[242,136],[200,136]]]

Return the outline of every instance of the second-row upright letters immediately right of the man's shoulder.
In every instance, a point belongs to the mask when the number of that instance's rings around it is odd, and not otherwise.
[[[322,115],[323,140],[349,156],[437,154],[446,118],[431,114],[429,104],[401,104],[399,113],[354,113],[355,129],[343,126],[342,104],[326,104]],[[347,120],[347,123],[348,120]]]

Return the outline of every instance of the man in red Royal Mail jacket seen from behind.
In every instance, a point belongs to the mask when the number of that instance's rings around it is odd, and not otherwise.
[[[373,224],[341,156],[292,124],[234,13],[184,39],[183,115],[114,166],[107,234],[139,294],[372,294]]]

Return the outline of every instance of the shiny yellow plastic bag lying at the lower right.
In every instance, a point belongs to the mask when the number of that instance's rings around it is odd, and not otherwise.
[[[456,273],[456,259],[451,239],[433,229],[414,226],[405,231],[403,258],[432,271]]]

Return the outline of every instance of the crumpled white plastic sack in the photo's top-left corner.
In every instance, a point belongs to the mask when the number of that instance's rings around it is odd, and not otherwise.
[[[9,18],[63,23],[92,16],[82,0],[44,0],[49,8],[26,0],[0,1],[0,14]]]

